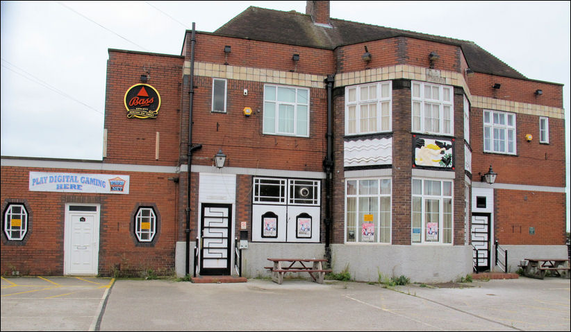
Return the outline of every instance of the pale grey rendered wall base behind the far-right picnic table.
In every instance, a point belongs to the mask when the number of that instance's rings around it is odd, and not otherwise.
[[[518,271],[520,268],[518,264],[524,259],[568,258],[567,245],[499,245],[499,247],[508,251],[508,272],[513,273]],[[501,271],[497,266],[493,270]]]

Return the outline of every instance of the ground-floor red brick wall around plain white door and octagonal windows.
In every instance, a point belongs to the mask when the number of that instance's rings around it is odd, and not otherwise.
[[[65,204],[101,204],[99,229],[99,274],[113,275],[114,269],[129,271],[154,270],[167,274],[174,267],[174,238],[176,204],[174,183],[167,180],[170,174],[117,171],[113,174],[129,175],[128,195],[96,193],[53,193],[28,191],[30,171],[62,173],[109,173],[105,171],[79,171],[63,168],[1,168],[2,207],[7,202],[25,202],[31,219],[25,245],[7,241],[1,236],[1,274],[61,275],[64,263]],[[133,209],[139,204],[152,203],[160,215],[158,233],[152,246],[136,245],[131,227]],[[119,266],[120,264],[120,266]]]

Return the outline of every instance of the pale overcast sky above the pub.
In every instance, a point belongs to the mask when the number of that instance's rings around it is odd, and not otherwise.
[[[101,160],[108,49],[180,55],[192,22],[213,32],[248,6],[306,1],[1,1],[1,155]],[[331,1],[331,17],[470,40],[564,84],[570,142],[570,1]]]

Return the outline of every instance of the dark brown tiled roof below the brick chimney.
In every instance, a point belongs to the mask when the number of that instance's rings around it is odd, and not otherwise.
[[[313,24],[310,15],[295,11],[283,12],[250,6],[213,34],[331,50],[338,46],[390,37],[413,37],[460,46],[468,66],[478,73],[527,79],[474,42],[342,19],[331,19],[331,26]]]

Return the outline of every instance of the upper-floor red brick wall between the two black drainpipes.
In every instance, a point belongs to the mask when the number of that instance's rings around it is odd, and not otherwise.
[[[326,91],[311,89],[310,137],[263,134],[263,86],[261,82],[228,80],[227,112],[211,112],[212,78],[197,76],[192,111],[193,143],[202,148],[192,154],[192,164],[213,165],[222,149],[225,166],[322,171],[326,150]],[[248,89],[248,96],[243,96]],[[244,107],[251,107],[245,116]]]

